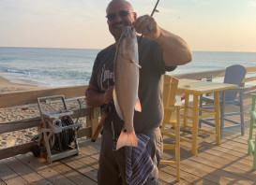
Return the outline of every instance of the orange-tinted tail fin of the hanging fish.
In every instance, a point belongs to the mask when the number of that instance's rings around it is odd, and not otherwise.
[[[125,132],[123,129],[121,134],[119,135],[119,138],[116,143],[116,150],[125,146],[138,147],[138,140],[134,130],[128,133]]]

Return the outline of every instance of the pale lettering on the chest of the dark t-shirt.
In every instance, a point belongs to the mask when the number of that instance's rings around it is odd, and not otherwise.
[[[113,86],[113,70],[106,69],[105,64],[101,69],[100,87],[101,91],[106,91],[109,86]]]

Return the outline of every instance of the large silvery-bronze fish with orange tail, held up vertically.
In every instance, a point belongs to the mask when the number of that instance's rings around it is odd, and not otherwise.
[[[123,31],[115,52],[113,64],[113,102],[124,126],[116,143],[116,149],[138,146],[133,127],[134,109],[142,111],[138,98],[139,56],[135,28],[127,26]]]

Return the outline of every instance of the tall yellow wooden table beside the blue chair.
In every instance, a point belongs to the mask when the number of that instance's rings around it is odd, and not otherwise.
[[[219,124],[219,92],[237,88],[237,85],[218,83],[211,81],[201,81],[195,79],[179,79],[177,92],[185,93],[185,106],[183,118],[183,127],[191,129],[192,139],[182,136],[181,140],[188,141],[192,144],[192,154],[197,154],[198,143],[206,139],[216,137],[216,144],[220,144],[220,124]],[[203,93],[214,93],[214,110],[204,109],[199,107],[199,96]],[[189,106],[189,95],[193,96],[193,104]],[[188,115],[188,109],[192,110],[192,115]],[[203,115],[199,115],[199,112]],[[205,130],[198,127],[198,121],[201,119],[214,117],[215,118],[215,131]],[[191,126],[188,125],[188,120],[191,120]],[[198,138],[198,133],[202,132],[207,134],[207,137]]]

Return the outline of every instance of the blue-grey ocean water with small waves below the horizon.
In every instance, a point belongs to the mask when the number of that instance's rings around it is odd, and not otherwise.
[[[0,47],[0,76],[11,82],[39,86],[88,84],[99,50]],[[253,66],[256,52],[193,51],[193,61],[172,74]]]

